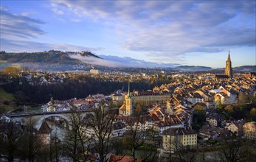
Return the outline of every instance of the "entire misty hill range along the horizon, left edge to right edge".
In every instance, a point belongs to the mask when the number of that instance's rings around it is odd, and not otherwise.
[[[91,68],[159,68],[171,71],[224,71],[224,68],[208,66],[181,66],[177,63],[153,63],[136,60],[131,57],[111,55],[97,56],[91,52],[0,52],[0,70],[6,66],[27,67],[40,71],[88,71]],[[233,68],[234,72],[256,71],[256,66],[240,66]]]

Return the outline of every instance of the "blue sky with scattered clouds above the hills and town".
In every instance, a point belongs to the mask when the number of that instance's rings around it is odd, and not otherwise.
[[[230,51],[233,67],[256,64],[255,0],[1,0],[0,6],[1,51],[90,51],[142,66],[212,68],[224,67]]]

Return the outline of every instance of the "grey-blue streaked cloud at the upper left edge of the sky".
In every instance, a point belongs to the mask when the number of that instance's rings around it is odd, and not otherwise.
[[[10,13],[6,7],[1,7],[0,10],[1,39],[30,39],[46,34],[40,29],[44,21],[30,18],[27,13],[21,13],[21,15]]]

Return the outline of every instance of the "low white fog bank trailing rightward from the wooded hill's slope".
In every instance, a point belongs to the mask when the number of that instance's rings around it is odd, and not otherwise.
[[[91,65],[97,65],[97,66],[107,66],[112,68],[117,68],[117,67],[170,68],[174,66],[179,66],[179,64],[176,64],[176,63],[153,63],[145,60],[136,60],[131,57],[107,56],[103,54],[99,56],[103,59],[96,58],[96,57],[86,57],[80,54],[69,54],[69,57],[80,60],[83,63],[89,63]]]

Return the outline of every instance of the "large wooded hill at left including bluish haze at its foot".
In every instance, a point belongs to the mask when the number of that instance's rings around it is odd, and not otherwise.
[[[1,52],[0,69],[6,66],[21,66],[39,71],[70,71],[75,69],[91,68],[89,64],[72,58],[70,57],[71,55],[101,59],[91,52],[61,52],[55,50],[50,50],[48,52]]]

